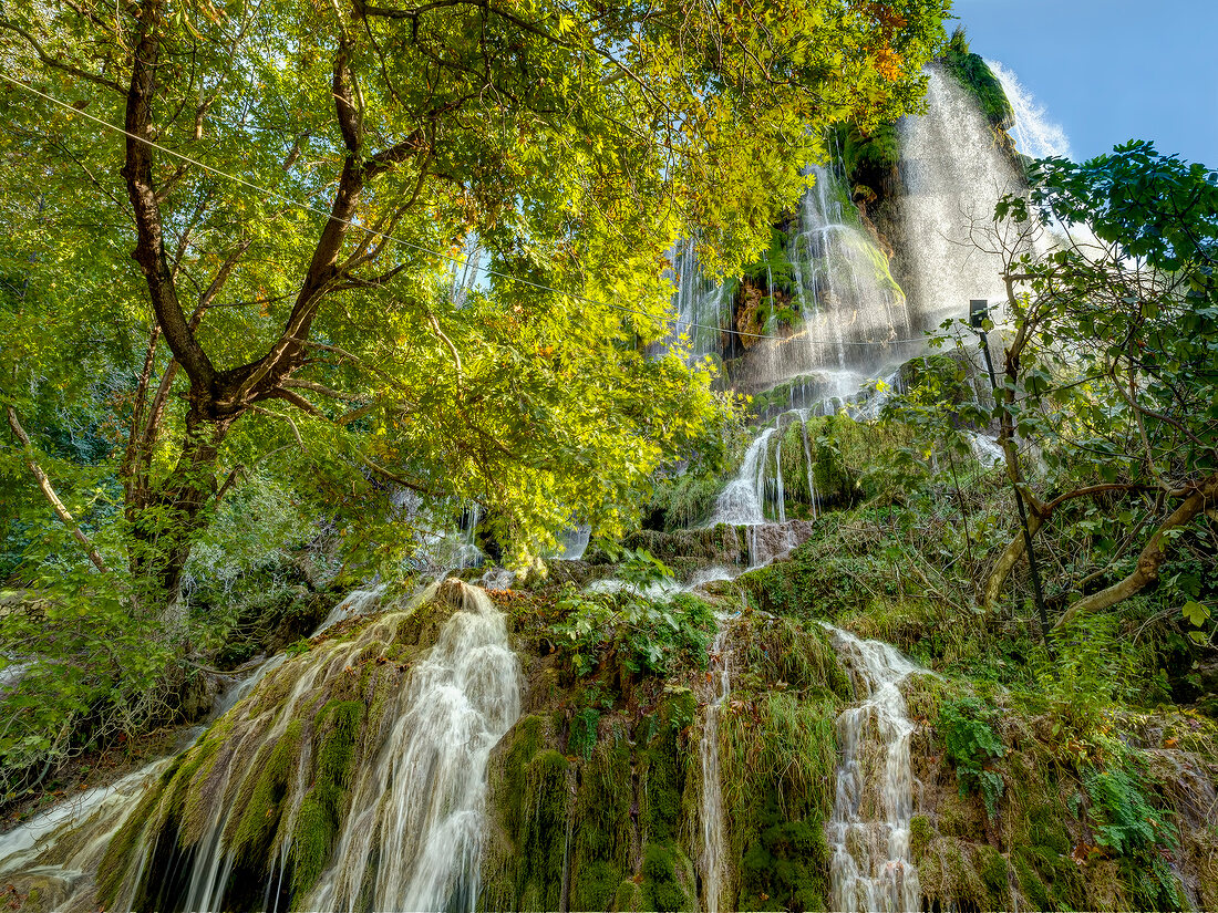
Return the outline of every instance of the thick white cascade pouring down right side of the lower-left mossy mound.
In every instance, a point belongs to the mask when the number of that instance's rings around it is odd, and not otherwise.
[[[312,909],[474,909],[486,764],[520,715],[520,666],[503,615],[481,589],[463,590],[390,715],[380,757],[362,768]]]

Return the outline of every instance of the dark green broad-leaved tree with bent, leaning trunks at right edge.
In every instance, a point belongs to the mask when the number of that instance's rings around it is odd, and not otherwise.
[[[1080,499],[1125,527],[1097,570],[1068,581],[1078,598],[1060,627],[1156,582],[1218,500],[1218,172],[1130,142],[1083,164],[1035,162],[1030,178],[1030,197],[996,213],[1024,229],[1005,274],[1007,470],[1033,532]],[[1044,229],[1056,241],[1038,253],[1027,242]],[[1017,436],[1044,448],[1040,491]],[[1021,533],[988,601],[1022,553]]]

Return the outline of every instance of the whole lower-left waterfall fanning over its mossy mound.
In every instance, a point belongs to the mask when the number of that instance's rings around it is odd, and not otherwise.
[[[343,605],[379,600],[370,588]],[[413,666],[393,659],[432,626],[435,645]],[[376,677],[362,679],[358,670]],[[487,594],[435,583],[353,638],[263,663],[223,701],[231,710],[216,727],[192,730],[202,735],[183,755],[0,836],[0,875],[69,911],[284,909],[291,898],[308,909],[471,913],[487,760],[519,716],[520,678],[504,617]],[[343,712],[356,727],[351,754],[328,762],[336,743],[326,733],[339,732]],[[309,839],[326,763],[347,771],[346,785],[329,789],[350,802],[335,800],[333,851],[314,857],[319,876],[297,896],[297,841]],[[259,802],[269,802],[266,817]],[[130,848],[99,872],[112,844]],[[99,898],[101,880],[117,891],[113,900]]]

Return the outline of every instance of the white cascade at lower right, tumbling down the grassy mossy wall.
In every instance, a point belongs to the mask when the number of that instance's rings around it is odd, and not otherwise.
[[[920,911],[917,866],[910,859],[914,722],[899,688],[920,670],[888,644],[826,627],[862,698],[837,718],[837,792],[825,825],[833,852],[832,909]]]

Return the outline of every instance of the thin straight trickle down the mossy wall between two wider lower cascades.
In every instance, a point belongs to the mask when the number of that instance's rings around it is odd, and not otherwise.
[[[719,618],[719,632],[710,648],[710,666],[719,667],[714,676],[714,693],[706,704],[706,716],[702,727],[702,744],[698,746],[702,762],[702,890],[705,913],[719,913],[727,861],[727,827],[723,820],[723,778],[719,763],[719,716],[731,693],[727,657],[727,628]]]

